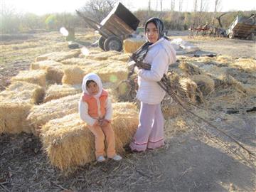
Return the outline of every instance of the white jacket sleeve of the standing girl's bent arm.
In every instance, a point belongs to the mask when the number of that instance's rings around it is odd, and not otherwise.
[[[167,55],[164,48],[159,49],[156,53],[152,63],[151,70],[140,69],[138,75],[145,80],[149,81],[160,81],[166,73],[166,68],[169,65],[169,56]]]

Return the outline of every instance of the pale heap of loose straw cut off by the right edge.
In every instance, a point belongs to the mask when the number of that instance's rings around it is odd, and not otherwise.
[[[253,58],[239,58],[230,66],[239,68],[247,73],[256,73],[256,60]]]

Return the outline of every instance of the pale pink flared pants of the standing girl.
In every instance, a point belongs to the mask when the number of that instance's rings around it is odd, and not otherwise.
[[[145,151],[164,145],[164,117],[161,104],[149,105],[141,102],[139,127],[129,145],[132,150]]]

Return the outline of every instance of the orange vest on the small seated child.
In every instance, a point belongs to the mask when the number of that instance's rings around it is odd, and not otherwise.
[[[105,117],[106,114],[106,101],[107,101],[107,91],[102,90],[102,94],[99,97],[100,100],[100,114],[98,114],[98,106],[97,106],[97,100],[95,97],[87,95],[86,93],[82,95],[82,101],[87,102],[88,105],[88,114],[92,118],[102,118]]]

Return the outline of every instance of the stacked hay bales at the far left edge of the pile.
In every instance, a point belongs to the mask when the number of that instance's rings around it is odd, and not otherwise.
[[[33,104],[42,101],[45,90],[28,82],[13,82],[0,93],[0,134],[31,132],[26,117]]]

